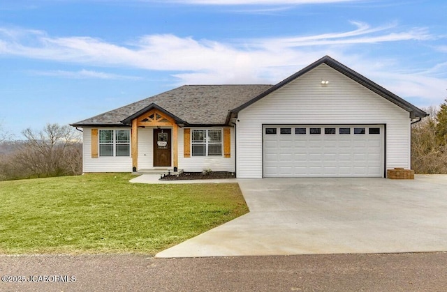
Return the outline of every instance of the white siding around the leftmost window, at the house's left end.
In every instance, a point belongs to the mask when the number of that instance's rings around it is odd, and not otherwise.
[[[104,130],[122,130],[122,128],[101,128]],[[132,172],[132,157],[91,158],[91,128],[83,128],[82,135],[82,171],[83,172]]]

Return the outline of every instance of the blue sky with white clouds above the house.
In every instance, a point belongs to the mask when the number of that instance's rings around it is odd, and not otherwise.
[[[445,0],[1,0],[0,125],[66,125],[184,84],[277,84],[325,55],[447,97]]]

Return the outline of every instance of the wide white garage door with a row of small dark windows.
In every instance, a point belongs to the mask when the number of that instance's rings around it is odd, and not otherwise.
[[[264,125],[264,177],[383,177],[383,125]]]

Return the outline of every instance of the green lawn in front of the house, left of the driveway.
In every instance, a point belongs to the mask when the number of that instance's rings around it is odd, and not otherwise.
[[[235,183],[143,185],[131,178],[0,182],[0,254],[155,254],[248,212]]]

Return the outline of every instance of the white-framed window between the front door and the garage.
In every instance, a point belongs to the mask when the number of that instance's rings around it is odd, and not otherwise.
[[[222,131],[193,130],[191,148],[193,156],[222,156]]]

